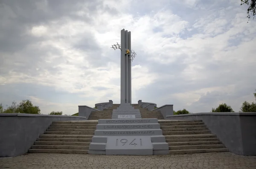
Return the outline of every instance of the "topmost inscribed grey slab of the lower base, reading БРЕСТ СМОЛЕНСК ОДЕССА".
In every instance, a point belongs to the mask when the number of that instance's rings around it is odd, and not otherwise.
[[[98,124],[158,123],[157,118],[143,119],[99,119]]]

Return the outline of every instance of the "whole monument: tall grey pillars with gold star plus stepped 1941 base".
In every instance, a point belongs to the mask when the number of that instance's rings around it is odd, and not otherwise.
[[[153,155],[168,154],[160,124],[156,118],[142,119],[140,109],[131,106],[131,60],[136,53],[131,50],[131,32],[121,30],[121,99],[113,109],[112,119],[100,119],[96,126],[89,154],[104,155]]]

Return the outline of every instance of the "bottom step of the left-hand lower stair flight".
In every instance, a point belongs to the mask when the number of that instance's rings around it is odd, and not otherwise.
[[[29,153],[88,154],[87,149],[29,149]]]

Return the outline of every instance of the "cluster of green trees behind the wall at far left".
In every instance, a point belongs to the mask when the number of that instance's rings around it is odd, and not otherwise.
[[[1,103],[1,106],[2,106],[2,103]],[[7,105],[7,109],[3,110],[2,108],[1,113],[40,114],[40,109],[38,106],[33,106],[30,100],[22,100],[18,105],[15,101],[13,101],[11,106]]]

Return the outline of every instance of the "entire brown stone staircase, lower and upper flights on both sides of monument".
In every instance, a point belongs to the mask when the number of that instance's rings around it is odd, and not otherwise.
[[[119,105],[113,105],[116,109]],[[201,152],[228,152],[216,135],[212,134],[202,120],[160,120],[157,111],[140,109],[142,118],[157,118],[160,129],[169,144],[169,154]],[[112,110],[92,112],[86,121],[52,122],[47,131],[29,149],[30,153],[87,154],[98,124],[98,119],[111,119]]]

